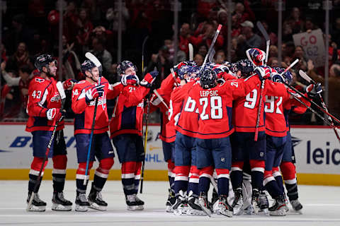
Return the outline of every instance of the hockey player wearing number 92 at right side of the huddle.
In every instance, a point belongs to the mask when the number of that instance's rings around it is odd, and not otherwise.
[[[287,78],[278,73],[273,73],[271,80],[285,83]],[[270,215],[286,215],[288,210],[285,205],[282,177],[278,170],[288,138],[288,126],[283,114],[284,105],[299,106],[301,104],[291,97],[289,90],[282,97],[266,95],[266,170],[263,185],[275,199],[273,206],[269,208]]]

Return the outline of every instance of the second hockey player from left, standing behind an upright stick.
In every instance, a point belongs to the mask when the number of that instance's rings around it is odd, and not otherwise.
[[[108,173],[113,166],[113,146],[108,136],[108,113],[106,99],[113,99],[123,85],[117,83],[111,86],[106,78],[101,77],[98,67],[90,60],[81,64],[81,71],[85,80],[79,81],[72,90],[72,109],[74,117],[74,136],[77,142],[77,198],[76,211],[87,211],[88,207],[96,210],[106,210],[108,204],[103,201],[101,190],[103,189]],[[90,147],[89,167],[91,169],[96,156],[99,166],[94,174],[89,199],[86,198],[86,186],[89,173],[86,172],[86,160],[89,150],[89,138],[94,120],[94,108],[98,98],[94,136]],[[86,184],[84,185],[84,180]]]

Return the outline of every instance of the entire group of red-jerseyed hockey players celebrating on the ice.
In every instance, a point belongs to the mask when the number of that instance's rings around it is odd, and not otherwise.
[[[113,145],[121,163],[128,210],[144,209],[137,191],[145,160],[142,123],[147,107],[151,111],[159,108],[161,112],[159,138],[170,184],[167,212],[175,215],[217,213],[228,217],[242,213],[285,215],[288,201],[283,179],[293,210],[301,210],[288,112],[302,114],[305,105],[310,103],[283,84],[293,80],[289,71],[263,65],[263,51],[248,49],[247,56],[249,59],[234,64],[210,63],[204,67],[196,66],[193,61],[181,62],[174,66],[174,71],[154,90],[149,100],[146,96],[152,93],[150,88],[157,71],[147,73],[140,81],[135,65],[122,61],[118,66],[120,83],[111,85],[101,77],[94,62],[84,61],[81,71],[85,80],[63,83],[64,90],[72,90],[75,114],[74,136],[79,163],[75,210],[106,210],[108,204],[103,201],[101,190],[113,166]],[[35,66],[40,76],[30,82],[26,126],[26,131],[33,135],[34,157],[29,173],[28,201],[33,194],[34,197],[28,210],[44,211],[46,207],[38,196],[39,186],[35,185],[40,185],[42,177],[37,181],[38,175],[40,168],[47,164],[45,161],[42,166],[57,121],[48,156],[53,160],[52,210],[72,210],[72,202],[63,194],[67,151],[62,131],[64,122],[60,119],[66,113],[62,110],[54,78],[57,65],[50,55],[43,54],[36,59]],[[321,85],[312,84],[307,86],[305,96],[312,97],[320,92]],[[97,98],[94,136],[90,141]],[[115,99],[111,121],[108,120],[107,99]],[[99,164],[91,191],[86,196],[87,170],[91,169],[95,157]],[[210,183],[214,186],[211,202],[208,201]],[[274,200],[271,207],[268,207],[265,191]]]

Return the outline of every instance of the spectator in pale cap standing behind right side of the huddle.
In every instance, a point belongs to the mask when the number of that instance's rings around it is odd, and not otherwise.
[[[244,59],[246,57],[246,49],[262,49],[263,47],[261,46],[261,37],[253,32],[254,24],[251,21],[246,20],[244,23],[241,23],[241,26],[242,34],[237,37],[237,57]]]

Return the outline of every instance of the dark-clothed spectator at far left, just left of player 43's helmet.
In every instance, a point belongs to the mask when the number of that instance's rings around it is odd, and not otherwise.
[[[6,68],[8,71],[15,71],[17,74],[19,67],[23,65],[28,65],[30,69],[34,68],[26,44],[24,42],[19,42],[16,52],[8,58]]]

